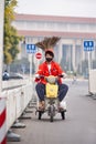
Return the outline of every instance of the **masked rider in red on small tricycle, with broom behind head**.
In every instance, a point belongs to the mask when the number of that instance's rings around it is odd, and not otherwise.
[[[63,100],[68,90],[68,86],[62,82],[62,79],[66,76],[65,72],[58,63],[53,61],[54,52],[52,45],[58,40],[56,37],[45,38],[44,41],[36,43],[38,47],[45,51],[45,61],[40,64],[35,74],[35,82],[38,82],[35,90],[39,96],[39,120],[41,120],[44,112],[47,112],[51,122],[53,122],[56,112],[61,113],[63,120],[65,119],[66,109]]]

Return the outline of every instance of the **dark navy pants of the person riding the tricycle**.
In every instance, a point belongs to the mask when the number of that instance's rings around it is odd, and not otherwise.
[[[38,83],[35,86],[38,96],[40,101],[44,101],[45,95],[45,84]],[[58,84],[58,100],[60,102],[65,97],[66,93],[68,91],[68,86],[66,84]]]

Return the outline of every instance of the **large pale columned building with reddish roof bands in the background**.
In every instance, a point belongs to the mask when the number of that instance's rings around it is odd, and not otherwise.
[[[89,52],[92,68],[96,66],[96,18],[54,17],[15,14],[12,23],[20,35],[25,38],[25,43],[35,43],[44,37],[61,37],[54,48],[55,60],[65,71],[86,73],[88,66],[88,52],[84,51],[84,41],[94,41],[94,51]],[[25,43],[20,43],[19,58],[29,56]],[[38,49],[41,51],[40,49]],[[36,62],[33,58],[34,63]]]

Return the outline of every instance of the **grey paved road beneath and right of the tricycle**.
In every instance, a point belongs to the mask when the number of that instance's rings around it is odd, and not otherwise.
[[[70,85],[66,120],[57,114],[51,123],[44,114],[39,121],[33,113],[31,120],[22,121],[25,128],[13,130],[21,135],[19,144],[96,144],[96,100],[86,96],[88,82],[66,83]]]

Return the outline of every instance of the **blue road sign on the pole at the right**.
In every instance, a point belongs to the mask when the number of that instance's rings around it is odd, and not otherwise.
[[[94,41],[84,41],[84,51],[94,51]]]

